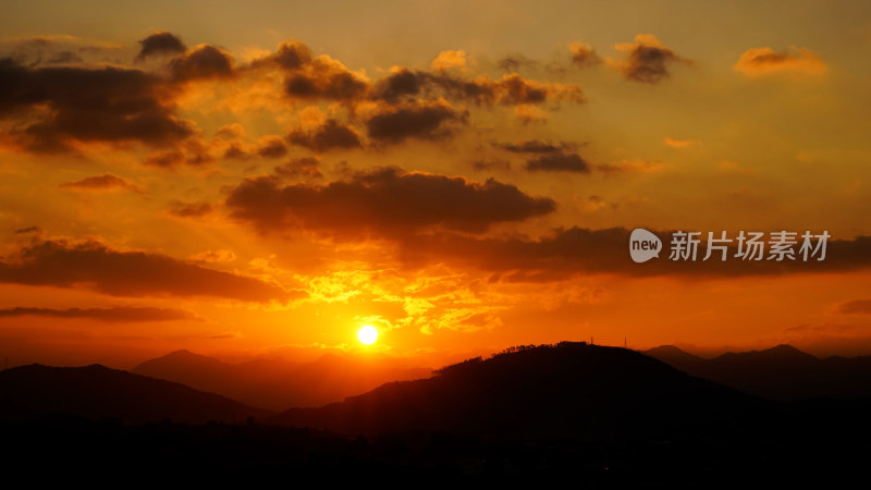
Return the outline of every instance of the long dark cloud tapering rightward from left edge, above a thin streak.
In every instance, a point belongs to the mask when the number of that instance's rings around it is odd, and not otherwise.
[[[212,296],[246,302],[298,295],[259,279],[207,269],[164,255],[120,252],[87,241],[51,240],[0,261],[0,283],[86,287],[110,296]]]

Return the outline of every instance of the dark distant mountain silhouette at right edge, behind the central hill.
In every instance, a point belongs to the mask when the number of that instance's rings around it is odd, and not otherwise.
[[[645,354],[690,376],[771,400],[871,397],[871,356],[820,359],[785,344],[712,359],[670,345]]]

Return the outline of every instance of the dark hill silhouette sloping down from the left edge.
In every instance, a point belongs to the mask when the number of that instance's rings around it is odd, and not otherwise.
[[[183,384],[110,369],[38,364],[0,371],[0,418],[69,414],[125,424],[243,421],[271,413]]]

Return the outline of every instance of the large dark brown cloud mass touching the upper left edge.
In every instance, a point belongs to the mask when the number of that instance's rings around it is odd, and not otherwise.
[[[191,126],[164,102],[156,75],[116,66],[30,69],[0,60],[0,119],[25,115],[13,136],[32,150],[68,149],[68,140],[164,146]]]

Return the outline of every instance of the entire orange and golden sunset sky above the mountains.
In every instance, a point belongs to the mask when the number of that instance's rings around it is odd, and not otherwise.
[[[10,364],[871,354],[868,2],[10,1],[0,33]],[[831,238],[635,264],[635,228]]]

